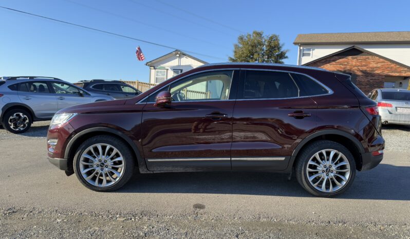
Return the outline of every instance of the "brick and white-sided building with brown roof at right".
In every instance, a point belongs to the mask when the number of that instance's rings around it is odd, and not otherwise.
[[[352,75],[364,93],[409,88],[410,32],[300,34],[298,65]]]

